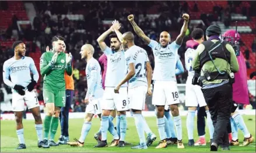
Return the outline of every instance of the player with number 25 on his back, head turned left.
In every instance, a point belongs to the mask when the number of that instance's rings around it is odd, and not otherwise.
[[[139,135],[139,145],[131,147],[132,149],[147,149],[148,144],[145,141],[144,129],[148,124],[142,116],[142,110],[145,109],[146,94],[152,95],[150,88],[152,79],[152,67],[149,62],[148,54],[145,49],[134,44],[134,34],[130,31],[121,34],[118,31],[118,22],[113,22],[113,28],[118,39],[128,48],[125,51],[125,60],[128,67],[127,75],[117,84],[114,92],[119,94],[122,84],[128,81],[128,106],[132,111],[132,116],[135,119],[135,126]],[[155,134],[153,134],[155,135]],[[156,140],[156,136],[153,136]],[[153,140],[153,141],[154,141]],[[152,142],[153,142],[152,141]],[[152,143],[151,143],[152,144]]]

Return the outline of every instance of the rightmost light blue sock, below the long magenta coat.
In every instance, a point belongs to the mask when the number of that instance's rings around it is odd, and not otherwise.
[[[251,136],[250,132],[247,129],[246,124],[244,123],[243,117],[240,115],[240,113],[236,113],[232,116],[234,119],[234,122],[236,122],[237,127],[243,131],[244,137],[249,138]]]

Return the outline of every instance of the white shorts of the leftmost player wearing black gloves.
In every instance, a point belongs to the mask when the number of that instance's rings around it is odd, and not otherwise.
[[[39,105],[36,93],[34,91],[25,91],[24,95],[20,95],[19,93],[13,92],[12,93],[12,109],[13,112],[21,112],[24,111],[25,105],[27,108],[36,108]]]

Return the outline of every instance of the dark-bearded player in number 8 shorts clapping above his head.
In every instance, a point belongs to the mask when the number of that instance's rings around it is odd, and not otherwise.
[[[121,26],[120,26],[121,27]],[[119,27],[119,28],[120,28]],[[107,145],[107,130],[113,134],[114,140],[111,142],[109,147],[124,147],[125,134],[127,130],[127,119],[126,111],[128,110],[128,98],[127,98],[127,84],[122,86],[121,94],[114,93],[114,87],[117,86],[118,82],[125,76],[125,59],[124,51],[121,48],[121,43],[118,41],[116,35],[110,35],[111,48],[107,47],[104,42],[107,35],[113,32],[111,26],[106,32],[100,35],[97,39],[101,51],[107,56],[107,72],[105,81],[105,91],[103,95],[103,102],[101,105],[102,116],[101,116],[101,141],[98,142],[94,147],[105,147]],[[120,118],[120,137],[117,131],[114,129],[112,122],[113,117],[110,117],[111,111],[117,109],[118,116]]]

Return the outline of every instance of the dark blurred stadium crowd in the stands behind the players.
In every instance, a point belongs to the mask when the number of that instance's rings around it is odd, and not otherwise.
[[[74,74],[73,78],[75,81],[75,92],[73,97],[73,112],[84,112],[85,104],[83,103],[86,95],[87,84],[85,78],[85,67],[86,63],[80,60],[79,49],[83,44],[92,44],[96,49],[94,58],[98,59],[102,52],[100,51],[99,45],[96,42],[97,37],[108,29],[108,26],[103,24],[103,20],[118,19],[122,23],[121,31],[133,31],[131,24],[128,23],[127,16],[133,13],[136,17],[136,23],[141,29],[144,30],[145,34],[148,34],[150,39],[159,40],[157,31],[167,30],[171,37],[177,37],[180,31],[180,27],[183,24],[180,15],[188,12],[188,4],[183,4],[178,1],[148,1],[143,3],[142,1],[136,1],[134,3],[129,2],[117,2],[117,1],[36,1],[37,16],[34,17],[33,29],[31,27],[23,31],[23,33],[13,34],[12,31],[17,29],[17,17],[14,15],[12,24],[6,31],[0,31],[0,40],[13,39],[13,40],[26,40],[31,43],[26,44],[26,55],[30,52],[35,52],[36,47],[39,47],[41,53],[45,52],[47,45],[51,45],[51,38],[54,35],[62,35],[65,37],[66,50],[71,52],[73,55],[73,66]],[[157,17],[149,17],[146,15],[148,6],[159,5]],[[132,5],[132,6],[131,6]],[[223,10],[219,6],[213,6],[213,12],[211,15],[201,15],[201,19],[204,21],[203,24],[198,24],[194,27],[189,27],[188,31],[192,31],[194,28],[201,28],[203,30],[213,21],[222,20],[225,26],[229,26],[231,19],[230,13],[234,13],[234,7],[239,5],[239,1],[230,3],[230,8]],[[118,7],[117,7],[118,6]],[[5,7],[4,7],[5,8]],[[58,9],[54,9],[58,8]],[[85,10],[84,8],[90,8]],[[133,10],[125,9],[133,8]],[[194,11],[198,11],[197,3],[195,2]],[[219,13],[222,12],[222,13]],[[246,13],[246,12],[245,12]],[[253,13],[249,11],[249,13]],[[71,14],[83,14],[84,20],[71,20],[68,17],[62,17],[61,15]],[[93,26],[92,26],[93,25]],[[184,65],[184,52],[185,42],[190,40],[190,32],[187,33],[187,37],[184,38],[183,44],[178,50],[181,62]],[[251,45],[252,50],[255,52],[255,42]],[[135,36],[135,44],[138,44],[142,48],[145,48],[149,55],[149,61],[151,62],[152,68],[154,68],[154,58],[148,45]],[[248,50],[248,49],[247,49]],[[248,59],[250,56],[249,51],[244,51],[245,58]],[[0,45],[0,67],[2,69],[3,62],[13,56],[12,48],[2,48]],[[250,68],[250,63],[247,62],[247,67]],[[178,83],[185,83],[187,79],[187,72],[177,76]],[[2,76],[0,77],[1,83]],[[38,100],[43,101],[43,83],[36,87],[38,93]],[[8,93],[11,92],[10,88],[1,84]],[[3,92],[0,90],[0,101],[3,101]],[[251,95],[250,102],[255,109],[255,97]]]

